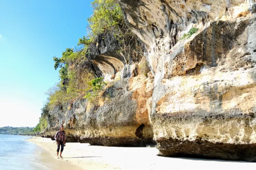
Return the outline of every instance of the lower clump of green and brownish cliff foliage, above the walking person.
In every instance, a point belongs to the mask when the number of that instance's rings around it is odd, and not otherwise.
[[[86,38],[81,38],[79,44],[87,44]],[[49,95],[49,108],[72,103],[82,99],[86,93],[87,82],[94,79],[92,66],[85,57],[84,51],[75,51],[67,48],[62,52],[62,57],[54,57],[54,68],[59,69],[60,83],[50,88],[46,94]]]

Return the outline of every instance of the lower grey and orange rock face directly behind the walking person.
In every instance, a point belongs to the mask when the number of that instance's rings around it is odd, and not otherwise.
[[[147,82],[152,84],[153,77],[138,76],[111,83],[102,94],[105,99],[99,108],[87,100],[56,107],[50,113],[55,117],[52,124],[56,121],[56,126],[46,134],[53,138],[59,125],[64,124],[67,142],[103,146],[155,145],[146,106],[152,96],[152,92],[144,90],[150,86]]]

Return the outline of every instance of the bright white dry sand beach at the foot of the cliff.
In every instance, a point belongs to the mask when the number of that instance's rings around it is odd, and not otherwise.
[[[28,139],[56,158],[57,145],[49,138],[33,137]],[[74,169],[254,169],[256,163],[232,162],[224,160],[206,160],[195,158],[171,158],[157,156],[156,148],[124,148],[90,146],[88,143],[66,143],[63,159],[54,159],[56,163],[68,161]]]

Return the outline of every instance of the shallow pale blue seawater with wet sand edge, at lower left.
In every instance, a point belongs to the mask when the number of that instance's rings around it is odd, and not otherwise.
[[[30,137],[0,135],[0,170],[52,170],[78,169],[77,167],[49,156]]]

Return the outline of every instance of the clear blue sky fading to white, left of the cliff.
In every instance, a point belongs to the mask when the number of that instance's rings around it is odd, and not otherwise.
[[[90,0],[1,0],[0,127],[37,125],[60,57],[87,34]]]

